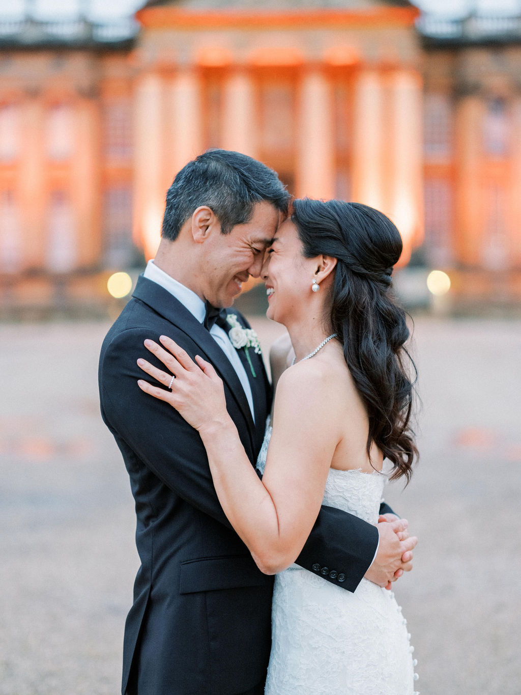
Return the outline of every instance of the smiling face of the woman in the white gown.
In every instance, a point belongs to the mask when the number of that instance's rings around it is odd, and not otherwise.
[[[297,227],[288,218],[277,230],[261,272],[269,304],[266,316],[285,325],[299,316],[311,292],[315,263],[304,258],[302,250]]]

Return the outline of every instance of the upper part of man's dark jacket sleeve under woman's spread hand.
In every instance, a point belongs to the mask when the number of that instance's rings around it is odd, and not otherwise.
[[[172,337],[187,348],[183,334]],[[158,341],[150,329],[128,329],[113,338],[101,357],[99,382],[105,423],[118,443],[122,442],[119,445],[131,450],[127,461],[138,457],[179,497],[231,528],[217,499],[199,433],[174,408],[143,393],[138,386],[138,379],[150,378],[138,367],[138,357],[165,368],[146,350],[145,338]],[[248,450],[247,443],[242,443]],[[140,465],[135,461],[135,466]]]

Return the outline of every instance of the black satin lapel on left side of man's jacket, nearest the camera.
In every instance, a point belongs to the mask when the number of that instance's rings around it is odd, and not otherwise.
[[[229,387],[233,398],[235,398],[240,411],[245,417],[251,443],[253,444],[255,441],[255,425],[251,417],[251,410],[249,409],[245,391],[228,357],[210,336],[208,330],[199,323],[197,318],[179,300],[176,300],[176,297],[156,282],[142,277],[142,275],[138,278],[138,284],[135,286],[132,296],[150,306],[151,309],[154,309],[167,321],[181,329],[200,348],[200,351],[204,353],[201,357],[208,359],[213,364],[220,377]],[[248,367],[247,374],[250,376],[249,372]]]

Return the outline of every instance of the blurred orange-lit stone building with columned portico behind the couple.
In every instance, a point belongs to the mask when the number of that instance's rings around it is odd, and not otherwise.
[[[521,20],[418,17],[406,1],[185,0],[137,24],[0,24],[3,306],[102,306],[110,272],[154,255],[165,191],[208,147],[265,161],[297,196],[377,207],[404,263],[515,300]]]

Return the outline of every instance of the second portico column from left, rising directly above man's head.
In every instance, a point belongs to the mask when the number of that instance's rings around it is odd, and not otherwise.
[[[167,100],[167,157],[164,163],[166,188],[170,186],[176,173],[204,149],[201,84],[197,72],[190,68],[181,68],[168,85]]]

